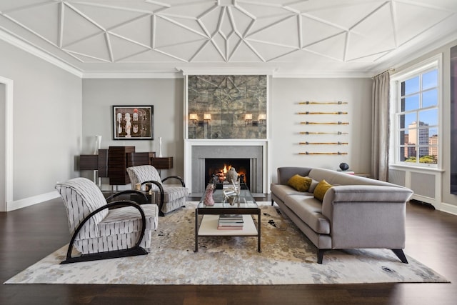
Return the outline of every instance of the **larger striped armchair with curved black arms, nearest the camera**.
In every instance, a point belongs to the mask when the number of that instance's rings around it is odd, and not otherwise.
[[[147,201],[143,193],[121,191],[105,199],[99,187],[86,178],[56,184],[56,189],[64,199],[72,236],[61,264],[148,254],[151,231],[157,229],[159,220],[158,207],[131,200],[110,201],[126,193]],[[81,256],[71,257],[73,248]]]

